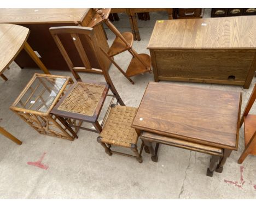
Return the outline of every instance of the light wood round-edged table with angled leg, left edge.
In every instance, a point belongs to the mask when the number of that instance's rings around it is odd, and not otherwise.
[[[8,68],[23,48],[45,74],[50,74],[27,43],[29,34],[30,30],[26,27],[0,24],[0,75],[5,81],[7,81],[7,77],[3,75],[4,70]]]

